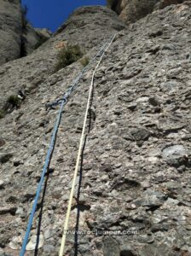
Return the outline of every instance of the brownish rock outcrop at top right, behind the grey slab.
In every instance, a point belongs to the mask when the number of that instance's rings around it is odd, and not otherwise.
[[[163,9],[182,2],[183,0],[107,0],[108,6],[127,24],[152,13],[153,9]]]

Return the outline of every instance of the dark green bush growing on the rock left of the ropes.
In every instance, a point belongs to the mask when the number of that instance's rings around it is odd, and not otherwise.
[[[75,61],[81,59],[84,53],[78,45],[67,45],[61,49],[57,55],[57,63],[55,65],[55,72],[63,67],[67,67]]]

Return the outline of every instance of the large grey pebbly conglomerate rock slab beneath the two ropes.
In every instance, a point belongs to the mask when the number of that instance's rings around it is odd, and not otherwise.
[[[116,32],[96,73],[66,255],[191,254],[190,14],[189,4],[171,5],[127,28],[107,8],[78,9],[31,55],[0,67],[0,102],[26,91],[0,119],[2,255],[18,255],[26,231],[58,111],[44,105],[83,68],[77,61],[55,73],[59,49],[75,42],[91,58]],[[59,251],[95,65],[63,113],[27,247],[38,255]]]

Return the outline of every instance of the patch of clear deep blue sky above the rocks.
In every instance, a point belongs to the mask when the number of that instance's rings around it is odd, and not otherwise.
[[[106,5],[106,0],[22,0],[28,8],[27,18],[34,27],[46,27],[55,32],[68,15],[80,6]]]

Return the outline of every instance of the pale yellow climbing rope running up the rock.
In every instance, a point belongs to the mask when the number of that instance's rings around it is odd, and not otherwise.
[[[98,61],[97,65],[96,65],[96,68],[95,68],[95,70],[92,74],[92,79],[91,79],[91,83],[90,83],[89,97],[88,97],[88,102],[87,102],[85,115],[84,115],[84,125],[83,125],[82,134],[81,134],[81,137],[80,137],[80,143],[79,143],[79,148],[78,148],[78,156],[77,156],[75,171],[74,171],[73,179],[72,179],[72,189],[71,189],[71,193],[70,193],[70,197],[69,197],[69,201],[68,201],[67,216],[66,216],[66,219],[65,219],[63,235],[62,235],[62,238],[61,238],[61,248],[60,248],[59,256],[63,256],[64,249],[65,249],[65,244],[66,244],[67,228],[68,228],[70,212],[71,212],[71,208],[72,208],[72,198],[73,198],[73,195],[74,195],[75,184],[76,184],[76,180],[77,180],[77,176],[78,176],[78,166],[79,166],[79,162],[80,162],[80,156],[82,154],[82,148],[83,148],[83,143],[84,143],[85,126],[86,126],[87,119],[88,119],[88,112],[89,112],[89,108],[90,108],[90,100],[91,100],[91,96],[92,96],[92,92],[93,92],[93,85],[94,85],[96,70],[100,66],[100,63],[102,61],[103,56],[107,52],[107,49],[110,47],[110,45],[113,43],[113,40],[116,37],[116,35],[117,35],[117,33],[110,40],[110,42],[107,45],[107,48],[104,49],[103,53],[101,54],[100,60]]]

